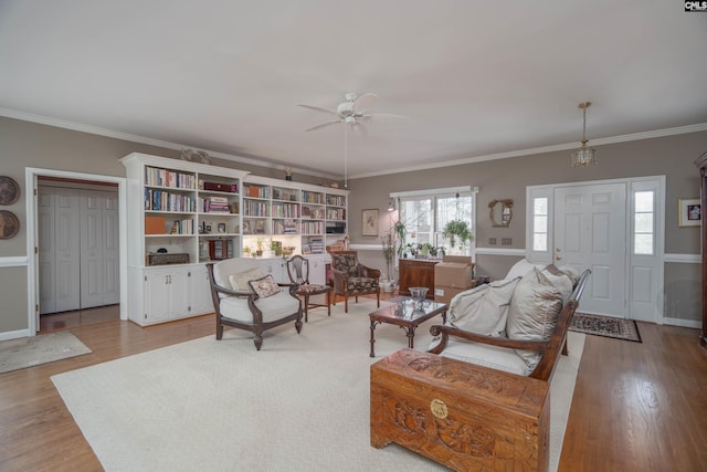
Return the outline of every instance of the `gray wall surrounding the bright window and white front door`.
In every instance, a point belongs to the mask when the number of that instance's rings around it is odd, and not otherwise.
[[[699,174],[693,164],[707,151],[707,132],[594,146],[599,165],[570,167],[569,151],[546,153],[516,158],[441,167],[380,177],[349,180],[349,227],[352,244],[380,244],[380,239],[361,235],[362,209],[380,209],[381,232],[389,228],[386,211],[390,192],[456,186],[478,187],[476,247],[525,249],[526,187],[547,183],[580,182],[616,178],[666,176],[666,254],[699,254],[698,228],[678,228],[677,201],[699,196]],[[514,216],[509,228],[493,228],[487,204],[494,199],[513,199]],[[510,245],[489,245],[488,239],[510,238]],[[381,251],[367,251],[360,258],[383,270]],[[476,273],[502,277],[518,260],[514,256],[479,255]],[[665,316],[701,319],[699,312],[699,265],[669,263],[665,273]],[[690,285],[692,289],[675,284]],[[677,296],[682,302],[671,303]]]

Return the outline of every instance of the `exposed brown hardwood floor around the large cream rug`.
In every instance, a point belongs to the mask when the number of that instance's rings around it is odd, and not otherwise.
[[[639,327],[642,344],[587,337],[560,471],[705,470],[707,349],[697,329]],[[50,377],[212,335],[214,322],[107,321],[72,332],[93,354],[0,375],[1,471],[102,470]]]

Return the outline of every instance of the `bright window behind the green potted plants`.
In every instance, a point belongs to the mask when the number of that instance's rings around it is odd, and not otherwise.
[[[452,248],[447,238],[442,234],[444,227],[451,220],[466,221],[474,234],[476,228],[474,214],[473,192],[443,191],[430,195],[425,191],[421,195],[407,193],[399,198],[400,221],[405,224],[408,237],[405,242],[413,245],[430,244],[434,248],[443,248],[446,254],[471,255],[474,243],[466,243],[463,250]]]

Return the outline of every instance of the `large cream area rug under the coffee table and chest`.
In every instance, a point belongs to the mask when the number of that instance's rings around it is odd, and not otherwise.
[[[213,336],[52,377],[107,471],[437,471],[397,444],[370,445],[369,367],[407,346],[397,326],[376,329],[374,302],[309,312],[265,336]],[[441,318],[439,318],[441,322]],[[415,348],[434,321],[418,328]],[[551,470],[562,436],[584,335],[557,369],[551,397]]]

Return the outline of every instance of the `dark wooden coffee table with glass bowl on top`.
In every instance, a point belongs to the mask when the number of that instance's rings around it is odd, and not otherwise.
[[[446,323],[446,308],[444,303],[424,300],[422,303],[412,298],[394,302],[390,306],[378,308],[369,313],[371,318],[371,357],[376,357],[373,345],[376,344],[376,326],[381,323],[398,325],[405,331],[408,347],[414,347],[415,328],[428,319],[442,314],[442,323]]]

